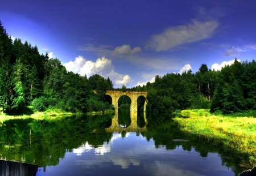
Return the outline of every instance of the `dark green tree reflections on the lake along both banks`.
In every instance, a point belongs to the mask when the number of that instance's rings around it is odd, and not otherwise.
[[[122,110],[120,112],[122,113]],[[0,127],[1,157],[6,160],[33,163],[39,167],[57,165],[67,151],[72,152],[81,145],[89,145],[90,148],[97,149],[113,140],[115,129],[108,128],[113,118],[114,115],[104,114],[44,120],[15,119],[3,122]],[[222,159],[222,164],[236,174],[245,170],[240,164],[241,160],[246,160],[244,156],[238,156],[237,153],[223,148],[218,141],[205,140],[181,132],[170,115],[151,115],[147,119],[147,127],[143,128],[145,130],[139,132],[142,128],[138,127],[134,128],[134,132],[137,135],[141,134],[148,141],[152,139],[155,148],[164,147],[167,150],[173,150],[180,146],[185,151],[191,151],[194,148],[201,157],[207,157],[209,152],[217,152]],[[122,129],[118,133],[122,138],[126,138],[127,128]],[[172,141],[172,139],[189,141]]]

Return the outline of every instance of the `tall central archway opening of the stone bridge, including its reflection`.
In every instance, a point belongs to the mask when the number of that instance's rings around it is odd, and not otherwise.
[[[131,98],[123,95],[118,99],[118,124],[120,127],[126,128],[131,124]]]

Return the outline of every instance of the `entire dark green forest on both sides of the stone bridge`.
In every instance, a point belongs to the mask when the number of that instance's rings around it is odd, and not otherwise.
[[[105,92],[113,89],[108,78],[90,78],[68,72],[61,62],[40,54],[27,41],[11,40],[0,22],[0,110],[23,114],[61,109],[71,112],[113,109]],[[125,86],[121,89],[126,91]],[[256,110],[256,63],[238,62],[221,71],[202,64],[199,71],[156,76],[155,82],[131,88],[147,91],[147,111],[210,109],[221,113]]]

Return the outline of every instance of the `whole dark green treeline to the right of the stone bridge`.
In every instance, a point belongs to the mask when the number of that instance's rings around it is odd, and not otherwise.
[[[256,63],[238,62],[221,71],[203,64],[195,74],[156,76],[154,83],[134,88],[148,91],[148,111],[164,113],[176,109],[220,110],[224,114],[256,110]]]

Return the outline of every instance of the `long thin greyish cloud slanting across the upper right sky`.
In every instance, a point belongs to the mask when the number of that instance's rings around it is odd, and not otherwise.
[[[210,38],[217,27],[217,20],[209,20],[208,22],[193,20],[190,24],[169,27],[162,33],[152,36],[148,46],[156,51],[168,50],[183,44]]]

